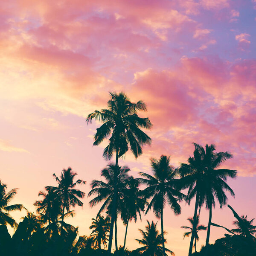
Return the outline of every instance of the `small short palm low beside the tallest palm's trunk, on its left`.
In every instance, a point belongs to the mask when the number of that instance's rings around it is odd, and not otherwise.
[[[96,219],[92,219],[92,225],[90,229],[93,229],[90,236],[93,237],[93,241],[96,248],[101,249],[101,244],[103,244],[104,248],[107,245],[110,222],[109,218],[104,218],[102,215],[99,215]]]

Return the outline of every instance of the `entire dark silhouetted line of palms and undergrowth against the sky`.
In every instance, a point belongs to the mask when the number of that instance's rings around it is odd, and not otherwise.
[[[0,183],[0,252],[4,253],[3,255],[17,255],[17,252],[20,255],[23,253],[39,256],[111,255],[113,236],[116,255],[175,255],[165,246],[164,208],[169,207],[174,215],[179,215],[180,202],[186,201],[190,204],[193,198],[195,210],[194,215],[188,218],[190,227],[182,227],[188,230],[184,233],[184,238],[191,237],[189,256],[192,255],[193,247],[195,255],[255,255],[250,254],[250,251],[255,252],[256,248],[256,226],[253,226],[253,220],[247,220],[247,216],[239,217],[230,207],[236,218],[236,229],[228,230],[212,223],[212,207],[215,207],[216,203],[220,208],[227,204],[226,192],[235,196],[227,184],[227,178],[236,178],[237,171],[221,169],[221,164],[233,157],[230,152],[216,152],[215,145],[206,145],[204,148],[194,143],[192,156],[178,168],[172,166],[170,157],[165,155],[161,155],[159,159],[151,158],[151,172],[139,172],[138,177],[129,174],[128,166],[119,166],[119,158],[128,150],[137,158],[143,153],[143,146],[151,143],[151,138],[144,131],[151,129],[152,124],[148,118],[139,117],[138,111],[146,111],[143,101],[132,103],[122,92],[110,93],[107,108],[87,116],[87,122],[92,119],[103,122],[96,129],[93,145],[99,145],[108,139],[103,157],[108,161],[115,157],[115,162],[108,163],[101,171],[102,180],[93,180],[90,183],[90,206],[101,204],[99,213],[93,218],[90,226],[90,236],[80,236],[77,239],[78,228],[66,222],[67,217],[73,216],[73,207],[83,205],[81,199],[85,196],[84,192],[78,189],[78,185],[85,184],[85,181],[75,181],[77,174],[71,168],[64,169],[60,177],[53,174],[57,186],[46,186],[44,191],[39,192],[41,199],[34,204],[37,214],[28,212],[19,225],[9,214],[12,210],[24,209],[20,204],[9,205],[17,191],[12,189],[6,192],[6,185]],[[140,189],[141,185],[143,190]],[[183,193],[185,189],[186,194]],[[203,207],[209,210],[207,227],[199,225]],[[141,238],[136,239],[139,248],[134,251],[127,250],[125,246],[129,222],[136,222],[141,218],[141,214],[147,214],[149,210],[160,219],[160,232],[153,221],[148,221],[145,230],[140,230]],[[121,218],[126,226],[124,241],[120,246],[117,242],[118,218]],[[7,224],[16,229],[12,238],[7,232]],[[221,241],[217,240],[214,245],[209,244],[211,225],[225,228],[230,234],[222,240],[218,239]],[[201,252],[196,253],[198,233],[201,230],[207,230],[207,239]],[[242,251],[239,244],[249,249]]]

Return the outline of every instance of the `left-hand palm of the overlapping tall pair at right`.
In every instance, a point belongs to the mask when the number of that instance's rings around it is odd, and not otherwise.
[[[180,184],[182,184],[182,189],[188,190],[187,202],[190,204],[192,198],[195,197],[195,210],[193,218],[196,219],[199,212],[204,204],[205,191],[204,191],[204,166],[202,162],[201,154],[198,151],[198,148],[195,147],[193,152],[193,157],[189,156],[188,163],[180,163],[179,167],[180,172]],[[189,244],[189,256],[192,255],[193,241],[195,237],[195,222],[193,222],[191,239]]]

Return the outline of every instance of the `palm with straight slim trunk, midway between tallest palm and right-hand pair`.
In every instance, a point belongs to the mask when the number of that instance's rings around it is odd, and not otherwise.
[[[177,169],[170,165],[170,157],[161,155],[159,160],[151,158],[151,167],[153,176],[140,172],[140,175],[145,178],[139,178],[139,181],[147,186],[143,191],[145,197],[152,198],[145,213],[153,207],[156,217],[161,218],[161,236],[164,250],[163,208],[166,204],[169,204],[174,214],[179,215],[181,208],[178,201],[182,200],[185,195],[180,192],[179,180],[176,179]]]

